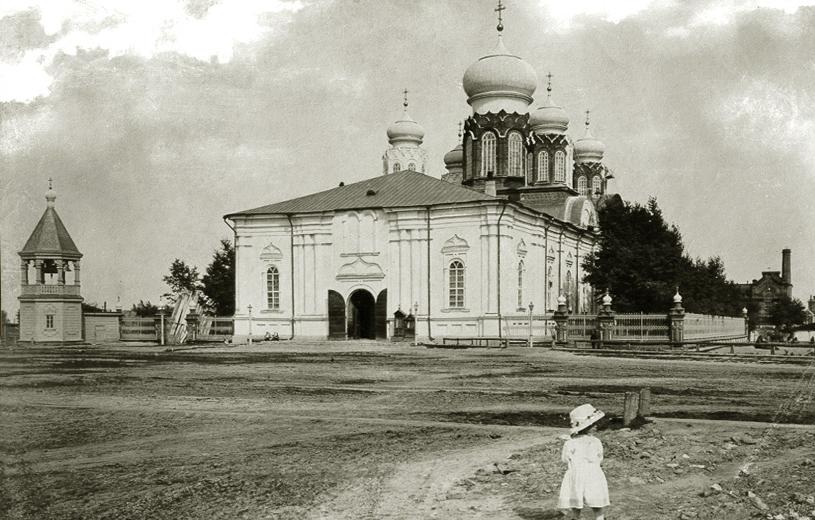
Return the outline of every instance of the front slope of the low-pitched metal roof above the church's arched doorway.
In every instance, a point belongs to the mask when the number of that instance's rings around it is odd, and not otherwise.
[[[314,213],[362,208],[435,206],[496,201],[496,197],[456,186],[414,171],[402,171],[339,186],[312,195],[226,215],[226,218],[270,213]]]

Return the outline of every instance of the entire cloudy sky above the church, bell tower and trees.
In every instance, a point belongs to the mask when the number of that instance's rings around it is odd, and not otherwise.
[[[381,174],[410,113],[429,174],[470,113],[491,0],[4,0],[2,308],[56,208],[88,302],[158,303],[174,258],[203,271],[222,216]],[[694,257],[734,281],[781,269],[815,294],[815,0],[506,0],[504,42],[553,74],[570,133],[606,144],[611,190],[656,197]]]

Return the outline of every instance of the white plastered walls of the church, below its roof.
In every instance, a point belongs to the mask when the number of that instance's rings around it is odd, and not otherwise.
[[[507,206],[500,223],[501,268],[498,268],[500,204],[462,204],[430,210],[430,264],[427,257],[427,208],[392,208],[327,212],[292,217],[296,337],[328,334],[328,291],[345,301],[357,290],[376,299],[387,289],[386,315],[392,332],[393,314],[411,314],[418,304],[417,330],[427,337],[428,275],[430,334],[496,336],[500,313],[525,315],[529,302],[535,314],[556,307],[571,275],[574,305],[587,302],[579,265],[588,252],[588,238],[531,211]],[[291,335],[291,242],[288,219],[266,216],[237,219],[236,337],[249,332],[248,305],[253,307],[252,334]],[[464,266],[464,299],[451,305],[450,266]],[[521,304],[518,265],[523,262]],[[278,269],[279,307],[269,309],[266,272]],[[551,277],[547,275],[552,271]],[[551,288],[550,288],[551,285]],[[390,333],[390,332],[389,332]]]

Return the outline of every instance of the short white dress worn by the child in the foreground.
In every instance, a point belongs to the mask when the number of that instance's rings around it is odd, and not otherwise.
[[[600,463],[603,462],[603,444],[591,435],[579,435],[563,444],[561,455],[569,465],[560,485],[560,509],[606,507],[608,483]]]

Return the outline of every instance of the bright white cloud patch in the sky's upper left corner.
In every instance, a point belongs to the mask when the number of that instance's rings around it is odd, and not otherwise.
[[[59,54],[102,49],[109,57],[152,58],[172,52],[200,61],[227,63],[235,47],[256,42],[275,29],[269,14],[294,13],[299,0],[195,2],[178,0],[12,0],[0,18],[36,11],[42,30],[55,36],[50,45],[0,62],[0,102],[30,103],[47,96],[49,68]]]

